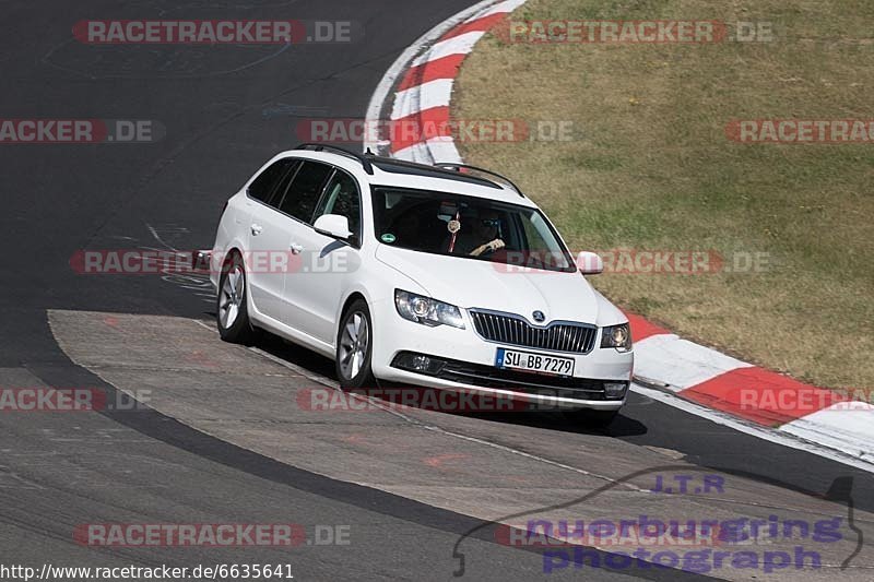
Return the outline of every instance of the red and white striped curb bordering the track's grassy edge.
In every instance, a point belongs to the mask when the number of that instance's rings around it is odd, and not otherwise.
[[[422,36],[392,64],[374,94],[368,127],[450,120],[452,87],[474,45],[527,0],[486,0]],[[394,138],[394,139],[391,139]],[[365,147],[401,159],[461,163],[451,136],[386,136]],[[874,472],[874,406],[804,384],[695,344],[628,313],[637,392],[744,432]]]

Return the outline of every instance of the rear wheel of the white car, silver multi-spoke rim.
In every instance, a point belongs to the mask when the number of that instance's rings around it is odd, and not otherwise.
[[[250,345],[258,337],[249,320],[246,305],[249,288],[246,269],[239,254],[234,253],[222,269],[218,280],[215,322],[222,340],[232,344]]]

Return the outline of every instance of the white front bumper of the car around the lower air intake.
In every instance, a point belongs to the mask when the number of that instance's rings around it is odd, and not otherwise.
[[[556,377],[497,368],[498,347],[536,349],[487,342],[473,330],[465,312],[464,330],[440,325],[428,328],[406,321],[394,306],[374,306],[374,373],[380,380],[428,388],[463,389],[500,394],[556,408],[617,411],[624,404],[631,380],[634,353],[595,348],[589,354],[552,353],[575,360],[572,377]],[[390,307],[391,309],[388,309]],[[421,355],[438,363],[430,369],[413,369],[405,364],[410,355]],[[621,397],[609,397],[604,383],[624,382]]]

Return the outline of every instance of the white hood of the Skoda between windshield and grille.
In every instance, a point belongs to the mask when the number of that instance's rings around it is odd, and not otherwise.
[[[612,325],[626,320],[579,272],[508,270],[499,263],[387,245],[379,246],[376,258],[412,278],[430,297],[465,309],[476,307],[518,313],[532,323],[534,311],[542,311],[546,322],[565,320]]]

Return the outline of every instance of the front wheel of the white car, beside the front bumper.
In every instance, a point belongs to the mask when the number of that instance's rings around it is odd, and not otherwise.
[[[367,302],[357,299],[343,312],[336,330],[334,366],[340,387],[371,388],[376,380],[370,368],[374,351],[374,325]]]

